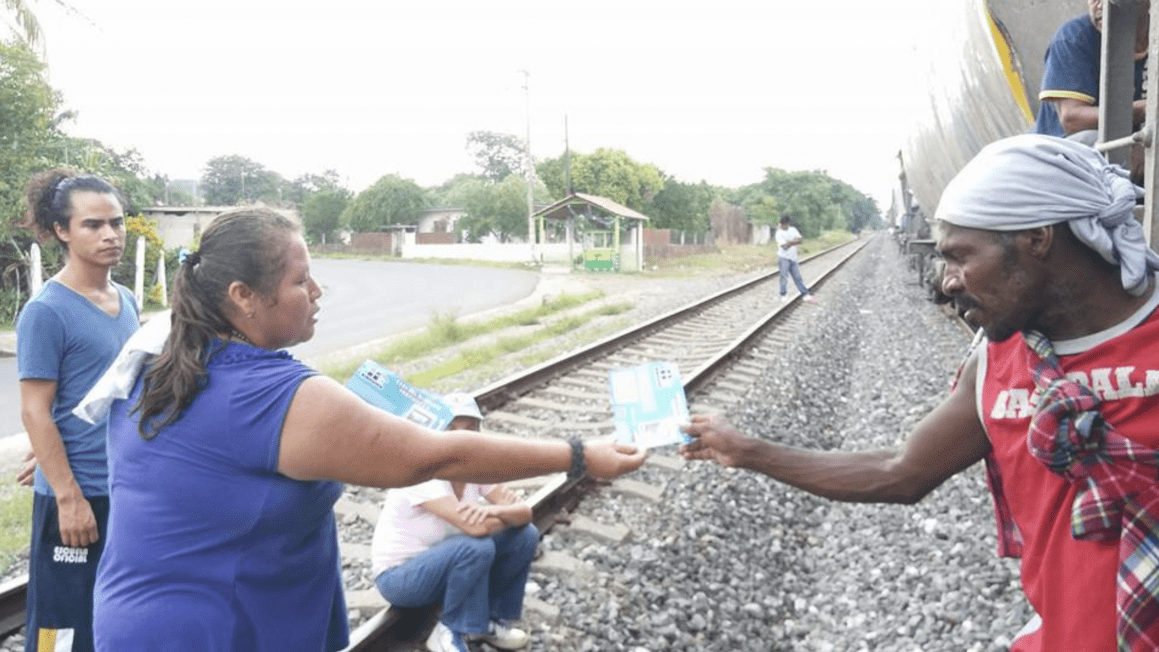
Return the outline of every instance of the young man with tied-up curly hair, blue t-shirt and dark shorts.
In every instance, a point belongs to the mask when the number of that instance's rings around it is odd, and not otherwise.
[[[93,650],[93,583],[109,517],[105,423],[71,413],[137,330],[137,302],[112,281],[125,215],[107,181],[53,169],[32,177],[31,225],[56,237],[60,271],[21,309],[16,369],[36,455],[24,649]]]

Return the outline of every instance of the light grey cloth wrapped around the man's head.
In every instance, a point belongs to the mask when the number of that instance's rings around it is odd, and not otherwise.
[[[1132,210],[1143,189],[1093,148],[1054,135],[1025,134],[987,145],[938,204],[936,219],[986,230],[1067,222],[1071,232],[1120,266],[1123,288],[1139,296],[1159,255]]]

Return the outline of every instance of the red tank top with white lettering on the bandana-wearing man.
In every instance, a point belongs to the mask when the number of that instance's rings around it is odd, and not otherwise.
[[[1067,376],[1100,397],[1100,412],[1108,423],[1123,437],[1159,448],[1159,316],[1140,313],[1102,334],[1056,342],[1055,349]],[[1121,332],[1139,318],[1143,323]],[[1030,375],[1035,360],[1015,335],[987,344],[978,366],[979,416],[1023,541],[1022,587],[1042,617],[1038,631],[1019,638],[1012,650],[1114,652],[1118,543],[1071,536],[1078,486],[1050,472],[1027,450],[1037,403]]]

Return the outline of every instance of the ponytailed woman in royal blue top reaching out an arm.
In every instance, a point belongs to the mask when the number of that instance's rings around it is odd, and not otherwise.
[[[97,650],[347,646],[343,482],[614,477],[643,463],[611,442],[431,432],[296,360],[284,349],[313,336],[321,290],[300,228],[275,211],[219,215],[174,280],[160,353],[140,373],[112,367]]]

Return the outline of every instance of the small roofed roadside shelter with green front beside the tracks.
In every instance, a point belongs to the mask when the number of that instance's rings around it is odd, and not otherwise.
[[[640,271],[644,266],[643,227],[648,217],[622,204],[585,192],[573,192],[534,214],[540,233],[548,221],[566,227],[568,259],[576,259],[578,240],[583,266],[596,271]],[[621,239],[625,233],[627,237]]]

